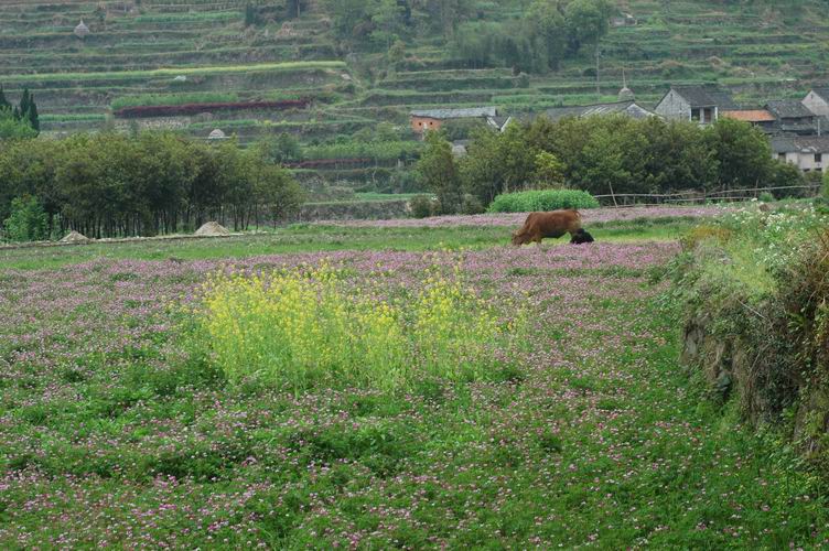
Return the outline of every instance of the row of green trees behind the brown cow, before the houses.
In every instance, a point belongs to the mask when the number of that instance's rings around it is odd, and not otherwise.
[[[796,166],[773,158],[762,131],[728,119],[700,127],[657,117],[540,117],[504,132],[481,128],[473,136],[459,159],[441,132],[427,134],[417,171],[443,213],[463,209],[469,196],[486,206],[500,193],[528,188],[571,187],[603,195],[804,182]]]

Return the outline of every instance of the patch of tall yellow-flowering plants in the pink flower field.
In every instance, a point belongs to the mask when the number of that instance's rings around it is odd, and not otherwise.
[[[201,323],[230,380],[252,377],[293,391],[480,379],[507,334],[457,277],[433,276],[410,296],[380,300],[325,266],[213,278]]]

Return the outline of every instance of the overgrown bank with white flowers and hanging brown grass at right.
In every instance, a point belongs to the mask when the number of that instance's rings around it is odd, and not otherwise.
[[[783,423],[821,468],[822,423],[815,432],[803,420],[829,412],[822,398],[829,380],[828,225],[808,204],[736,210],[683,240],[672,291],[686,327],[707,339],[687,352],[712,391],[739,397],[734,407],[752,422]],[[793,424],[787,410],[797,410],[801,421]]]

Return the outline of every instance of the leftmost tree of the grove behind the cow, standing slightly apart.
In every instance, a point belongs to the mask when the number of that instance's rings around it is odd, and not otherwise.
[[[416,171],[421,184],[438,196],[442,214],[456,213],[463,193],[452,145],[441,132],[427,132],[426,150]]]

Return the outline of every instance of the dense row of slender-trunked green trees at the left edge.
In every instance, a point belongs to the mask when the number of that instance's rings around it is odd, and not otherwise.
[[[52,235],[151,236],[207,220],[247,228],[293,213],[303,192],[261,148],[169,132],[0,141],[0,223],[36,199]],[[8,229],[8,228],[7,228]]]

